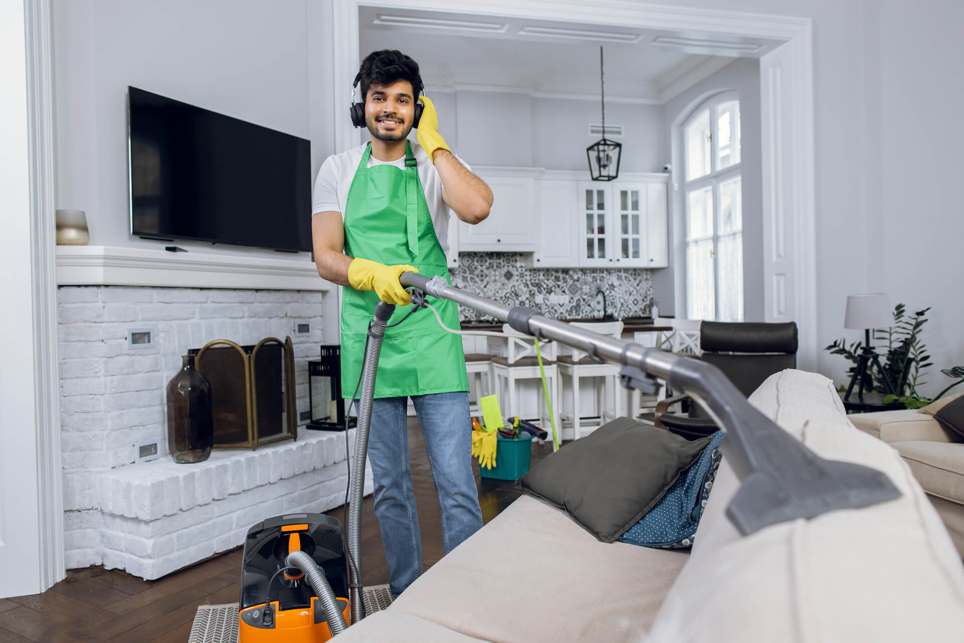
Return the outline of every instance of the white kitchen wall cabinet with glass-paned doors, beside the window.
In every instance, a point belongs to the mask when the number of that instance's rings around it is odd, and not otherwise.
[[[579,182],[576,202],[579,266],[668,265],[666,183]]]

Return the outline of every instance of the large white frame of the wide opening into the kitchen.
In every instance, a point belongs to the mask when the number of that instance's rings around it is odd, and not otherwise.
[[[761,69],[761,109],[770,131],[787,136],[779,145],[763,145],[763,230],[783,234],[789,261],[764,259],[764,306],[767,321],[793,319],[799,327],[797,362],[817,369],[817,232],[814,183],[814,67],[810,18],[740,13],[659,5],[629,0],[489,0],[460,3],[451,0],[333,0],[335,151],[358,144],[358,131],[345,112],[352,81],[358,73],[359,8],[380,7],[474,15],[548,19],[643,29],[684,30],[701,37],[752,37],[782,40],[779,52],[786,64],[779,80],[791,100],[781,99],[773,76]],[[345,118],[341,118],[345,116]],[[766,133],[763,133],[764,141]],[[764,252],[773,244],[764,240]],[[779,268],[779,271],[776,270]],[[782,298],[782,299],[781,299]],[[772,314],[773,311],[780,314]]]

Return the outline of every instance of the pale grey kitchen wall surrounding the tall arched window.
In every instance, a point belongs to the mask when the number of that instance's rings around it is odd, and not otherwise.
[[[697,83],[662,106],[664,158],[672,158],[670,182],[669,268],[653,273],[653,289],[660,314],[683,316],[674,295],[685,287],[685,223],[683,220],[683,148],[680,127],[710,94],[733,91],[739,96],[740,175],[743,189],[743,319],[763,321],[763,185],[760,147],[760,62],[740,58]],[[672,139],[672,140],[671,140]],[[676,270],[676,265],[680,270]],[[685,300],[683,299],[683,302]]]

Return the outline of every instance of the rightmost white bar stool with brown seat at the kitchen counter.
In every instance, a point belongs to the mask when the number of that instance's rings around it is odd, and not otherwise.
[[[621,321],[600,323],[571,322],[571,325],[600,335],[616,337],[617,339],[623,335],[623,322]],[[578,351],[575,348],[572,350],[572,355],[560,355],[558,358],[560,385],[564,386],[565,378],[569,378],[570,389],[568,392],[570,392],[569,396],[573,402],[572,414],[568,413],[570,405],[567,402],[566,410],[562,411],[560,415],[562,415],[563,421],[562,431],[565,432],[566,421],[571,422],[573,425],[573,440],[578,440],[582,437],[583,429],[599,428],[603,426],[607,420],[623,415],[623,395],[619,384],[619,365],[600,363],[582,351]],[[593,386],[595,387],[596,409],[599,411],[599,415],[582,415],[579,400],[579,380],[583,378],[597,378]],[[602,388],[599,387],[600,379],[602,379]],[[607,409],[606,404],[610,398],[613,400],[613,406],[612,409]],[[586,419],[597,419],[598,421],[586,424],[583,421]]]

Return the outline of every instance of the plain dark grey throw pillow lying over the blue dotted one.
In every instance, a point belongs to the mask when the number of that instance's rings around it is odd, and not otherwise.
[[[700,457],[710,438],[692,442],[617,417],[547,456],[516,487],[563,509],[603,543],[622,536]]]

